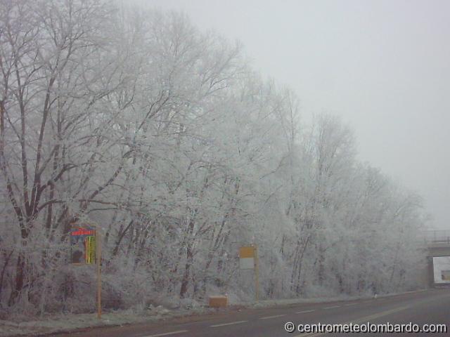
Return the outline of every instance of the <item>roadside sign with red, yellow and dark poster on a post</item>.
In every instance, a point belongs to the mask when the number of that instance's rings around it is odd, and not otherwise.
[[[95,226],[74,226],[70,230],[70,262],[97,269],[97,317],[101,319],[101,240]]]

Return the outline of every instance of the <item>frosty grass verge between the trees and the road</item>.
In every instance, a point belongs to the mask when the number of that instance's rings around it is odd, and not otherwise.
[[[418,290],[423,291],[423,290]],[[408,291],[408,293],[415,291]],[[378,297],[395,296],[400,293],[380,295]],[[171,309],[162,305],[148,308],[134,308],[130,310],[117,310],[107,312],[102,315],[102,319],[97,319],[96,314],[67,314],[67,315],[47,315],[36,320],[23,320],[16,317],[15,322],[0,320],[0,337],[12,336],[38,336],[46,333],[56,333],[65,331],[76,331],[99,326],[121,326],[125,324],[145,323],[158,320],[186,317],[193,315],[214,314],[223,310],[241,310],[242,308],[268,308],[281,305],[307,304],[334,302],[339,300],[361,300],[373,298],[371,295],[365,296],[336,296],[333,298],[295,298],[281,300],[260,300],[258,303],[231,303],[229,308],[207,308],[200,305],[195,300],[182,300],[180,305],[168,304]]]

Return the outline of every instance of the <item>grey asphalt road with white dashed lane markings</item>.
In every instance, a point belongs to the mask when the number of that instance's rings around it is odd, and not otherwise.
[[[218,312],[153,324],[91,329],[55,336],[71,337],[277,337],[348,336],[352,333],[299,333],[285,331],[285,323],[298,324],[445,324],[450,329],[450,290],[433,289],[397,296],[276,308]],[[447,333],[354,333],[364,336],[450,336]]]

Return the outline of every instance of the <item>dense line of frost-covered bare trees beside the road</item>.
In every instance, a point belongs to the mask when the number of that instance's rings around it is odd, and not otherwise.
[[[355,159],[340,119],[185,15],[96,0],[0,1],[0,305],[94,308],[73,223],[103,236],[105,306],[418,285],[421,201]],[[361,112],[362,113],[362,112]]]

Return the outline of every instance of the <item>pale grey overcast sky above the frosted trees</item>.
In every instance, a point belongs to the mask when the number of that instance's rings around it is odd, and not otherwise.
[[[422,194],[433,225],[450,229],[450,1],[140,2],[242,41],[305,116],[339,114],[359,158]]]

